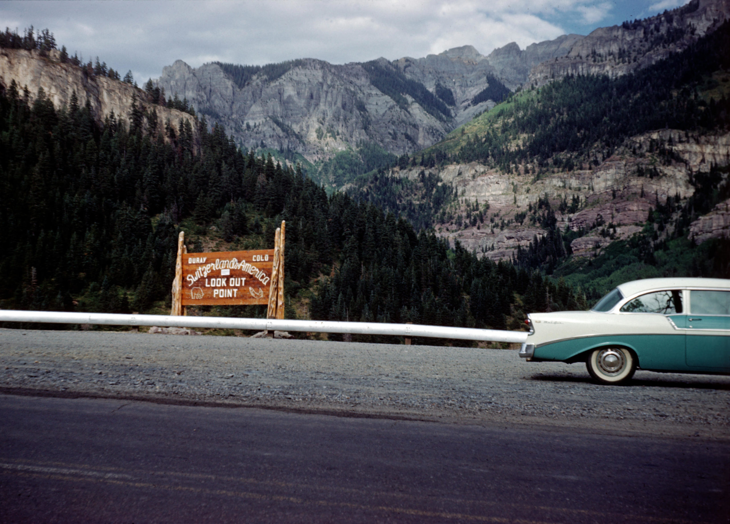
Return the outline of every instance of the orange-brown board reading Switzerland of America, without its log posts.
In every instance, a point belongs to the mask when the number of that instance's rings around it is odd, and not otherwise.
[[[269,304],[274,250],[185,253],[183,306]]]

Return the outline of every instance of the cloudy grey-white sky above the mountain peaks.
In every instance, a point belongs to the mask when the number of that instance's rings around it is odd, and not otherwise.
[[[85,60],[99,56],[138,81],[177,59],[264,64],[419,58],[473,45],[496,47],[588,34],[656,15],[688,0],[244,0],[1,1],[0,27],[55,34]]]

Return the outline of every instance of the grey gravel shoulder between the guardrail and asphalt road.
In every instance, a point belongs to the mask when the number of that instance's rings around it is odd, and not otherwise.
[[[730,440],[730,377],[603,386],[510,350],[0,329],[0,392]]]

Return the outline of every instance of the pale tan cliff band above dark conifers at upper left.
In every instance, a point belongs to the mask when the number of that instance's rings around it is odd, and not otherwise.
[[[79,106],[87,102],[91,106],[96,120],[101,123],[104,117],[112,112],[118,120],[128,122],[131,117],[133,97],[142,107],[153,107],[158,113],[158,123],[166,121],[180,128],[184,120],[191,123],[193,132],[197,134],[194,118],[188,113],[152,106],[147,100],[147,93],[134,85],[112,80],[107,77],[95,77],[84,74],[80,67],[70,63],[62,63],[58,50],[51,50],[43,56],[39,51],[23,49],[0,49],[0,82],[9,88],[15,80],[20,93],[28,89],[28,97],[32,101],[39,89],[45,93],[56,109],[69,106],[73,93],[76,93]]]

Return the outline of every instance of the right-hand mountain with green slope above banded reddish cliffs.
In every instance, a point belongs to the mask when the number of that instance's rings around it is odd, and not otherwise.
[[[696,242],[729,237],[730,201],[703,209],[712,215],[702,220],[693,203],[730,187],[729,42],[726,22],[647,69],[613,80],[569,76],[515,93],[399,161],[391,176],[445,186],[456,199],[428,209],[427,225],[494,260],[520,258],[520,249],[537,250],[550,235],[564,244],[559,256],[588,258],[637,235],[661,244],[669,229],[685,238],[691,231]],[[382,180],[358,181],[350,193],[408,216],[430,198],[387,187],[383,198],[374,187]],[[645,230],[660,208],[669,209],[661,227]]]

